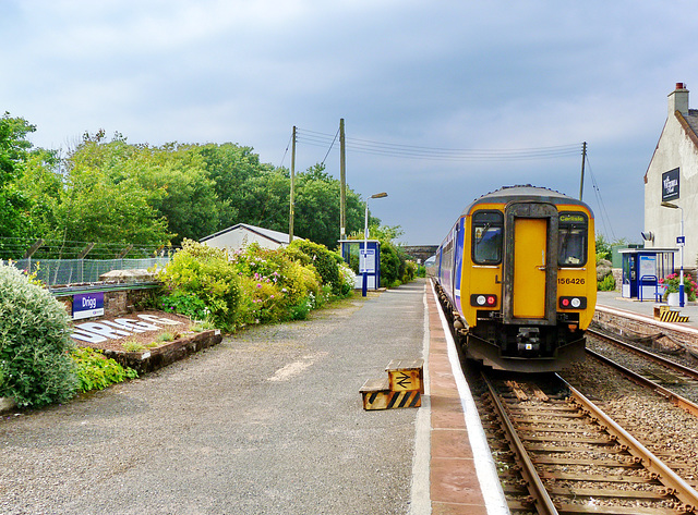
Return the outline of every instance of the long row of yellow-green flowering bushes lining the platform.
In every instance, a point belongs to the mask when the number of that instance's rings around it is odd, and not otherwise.
[[[349,295],[354,281],[338,254],[301,241],[276,250],[253,244],[227,256],[185,240],[159,277],[163,308],[226,332],[304,319],[327,301]]]

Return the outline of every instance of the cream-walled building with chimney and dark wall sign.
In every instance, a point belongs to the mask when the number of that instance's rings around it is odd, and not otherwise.
[[[688,109],[688,89],[677,83],[669,95],[666,122],[645,174],[645,246],[676,248],[682,219],[686,241],[684,267],[695,268],[698,258],[698,110]]]

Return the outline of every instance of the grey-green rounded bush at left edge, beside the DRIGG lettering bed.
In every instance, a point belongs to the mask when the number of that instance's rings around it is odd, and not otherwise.
[[[39,407],[77,390],[65,308],[14,267],[0,265],[0,397]]]

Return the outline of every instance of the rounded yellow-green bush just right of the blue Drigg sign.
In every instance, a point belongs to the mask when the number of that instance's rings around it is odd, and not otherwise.
[[[238,271],[222,250],[184,240],[182,249],[158,277],[165,284],[164,299],[177,301],[170,307],[185,309],[188,304],[196,306],[198,299],[216,327],[226,331],[234,328],[240,284]]]

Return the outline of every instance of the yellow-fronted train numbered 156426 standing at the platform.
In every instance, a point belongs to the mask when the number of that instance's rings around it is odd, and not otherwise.
[[[583,359],[597,302],[593,213],[530,185],[478,198],[436,253],[442,302],[466,356],[555,371]]]

